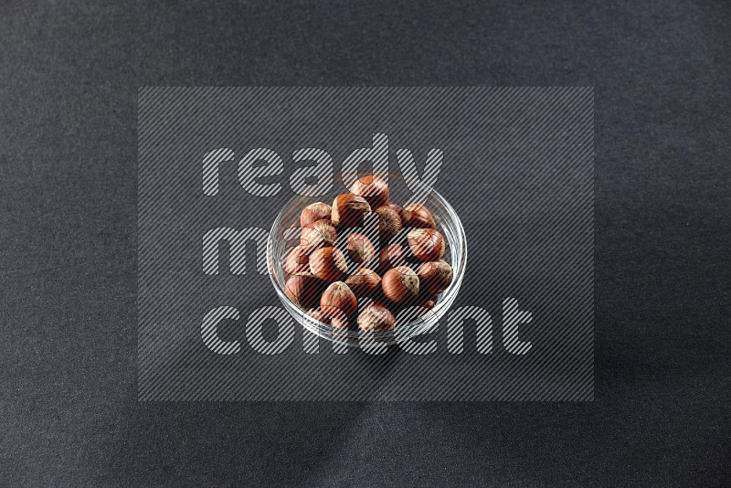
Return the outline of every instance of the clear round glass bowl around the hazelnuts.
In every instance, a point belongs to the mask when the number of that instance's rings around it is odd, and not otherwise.
[[[323,324],[308,315],[307,311],[302,310],[285,295],[284,285],[288,275],[282,268],[282,262],[287,251],[296,245],[295,241],[299,236],[302,208],[320,201],[332,204],[335,196],[348,192],[343,182],[354,180],[355,175],[351,175],[351,178],[347,178],[347,175],[332,177],[332,179],[330,177],[327,177],[327,179],[321,177],[317,186],[314,188],[312,186],[307,187],[308,193],[315,196],[294,196],[281,208],[280,213],[274,219],[274,223],[271,226],[267,241],[267,266],[269,268],[269,275],[284,308],[287,312],[291,313],[292,317],[299,324],[302,324],[305,329],[313,334],[317,334],[329,341],[351,346],[363,346],[364,342],[368,341],[394,345],[414,335],[429,332],[432,327],[439,324],[441,317],[450,309],[457,297],[457,293],[460,292],[465,265],[467,263],[467,242],[464,235],[464,228],[462,228],[460,217],[457,216],[454,208],[435,190],[420,184],[418,181],[411,181],[411,178],[409,178],[407,185],[403,175],[389,172],[387,174],[389,199],[401,207],[405,207],[410,203],[420,203],[428,207],[437,224],[437,229],[442,233],[444,239],[446,239],[448,249],[443,259],[450,263],[454,271],[450,286],[439,294],[439,300],[433,309],[417,317],[411,317],[406,324],[399,324],[397,315],[397,324],[393,331],[366,334],[357,330],[343,330],[328,324]],[[414,191],[415,186],[418,186],[416,192]],[[357,229],[355,230],[357,231]],[[408,232],[408,229],[402,230],[402,233],[404,232]],[[376,245],[376,250],[380,249],[377,247],[376,242],[374,242],[374,245]],[[345,256],[347,256],[347,253],[345,253]],[[355,271],[355,268],[351,267],[350,260],[348,260],[348,265],[349,273]],[[414,271],[418,267],[418,264],[414,265],[413,263],[407,263],[406,265]],[[375,269],[376,266],[372,265],[369,268]]]

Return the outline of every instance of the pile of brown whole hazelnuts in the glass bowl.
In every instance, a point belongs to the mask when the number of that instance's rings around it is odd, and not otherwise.
[[[398,207],[388,197],[386,181],[367,175],[332,205],[302,209],[299,245],[282,260],[284,292],[315,320],[339,330],[392,331],[397,316],[406,324],[449,287],[447,243],[429,208]],[[377,235],[357,231],[374,217]]]

